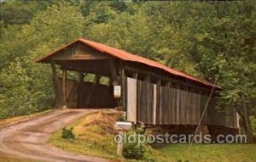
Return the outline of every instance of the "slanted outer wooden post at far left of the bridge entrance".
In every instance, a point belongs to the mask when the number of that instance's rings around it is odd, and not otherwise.
[[[56,66],[54,62],[50,63],[51,71],[52,71],[52,82],[55,90],[55,100],[56,100],[56,107],[60,108],[63,106],[63,98],[61,96],[61,87],[59,84],[58,75],[56,72]]]

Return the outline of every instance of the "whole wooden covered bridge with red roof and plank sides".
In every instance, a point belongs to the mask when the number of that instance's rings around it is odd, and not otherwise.
[[[224,109],[214,109],[221,87],[102,43],[79,38],[38,63],[51,65],[60,107],[116,107],[135,123],[197,125],[213,88],[202,124],[237,127],[236,112],[227,121]],[[67,71],[76,72],[77,78]]]

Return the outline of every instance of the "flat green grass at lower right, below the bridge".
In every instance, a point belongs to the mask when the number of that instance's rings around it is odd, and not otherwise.
[[[256,144],[193,144],[190,151],[189,144],[170,144],[156,149],[175,161],[256,161]]]

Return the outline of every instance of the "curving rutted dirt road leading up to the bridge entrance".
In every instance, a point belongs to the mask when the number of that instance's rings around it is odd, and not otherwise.
[[[108,161],[64,152],[50,146],[50,135],[96,109],[60,109],[13,126],[0,127],[0,157],[30,161]]]

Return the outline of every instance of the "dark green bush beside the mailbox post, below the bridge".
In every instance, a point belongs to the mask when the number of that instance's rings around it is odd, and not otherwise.
[[[123,155],[125,159],[143,159],[144,158],[144,153],[146,152],[146,149],[144,148],[142,143],[138,142],[138,135],[143,134],[141,128],[137,128],[136,131],[128,131],[127,132],[127,138],[129,136],[134,135],[136,133],[135,137],[135,142],[129,143],[128,140],[127,142],[124,143],[124,148],[123,148]]]

